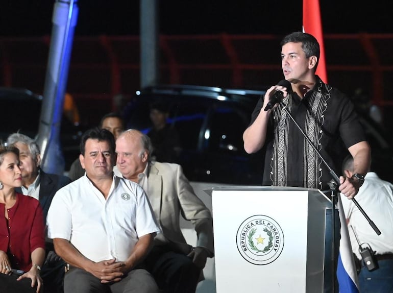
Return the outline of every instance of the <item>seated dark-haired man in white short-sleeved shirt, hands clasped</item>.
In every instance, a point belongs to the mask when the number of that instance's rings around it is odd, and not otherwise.
[[[80,160],[85,176],[56,193],[47,216],[48,237],[70,266],[64,292],[158,292],[137,265],[159,228],[143,189],[113,175],[113,134],[85,132]]]

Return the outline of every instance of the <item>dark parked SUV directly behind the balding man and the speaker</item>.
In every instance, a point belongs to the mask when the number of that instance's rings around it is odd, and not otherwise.
[[[247,154],[242,134],[264,89],[224,89],[204,86],[160,85],[137,91],[128,105],[128,128],[147,133],[151,128],[149,105],[166,103],[168,124],[180,135],[179,163],[190,181],[260,185],[263,151]],[[369,117],[361,123],[372,146],[373,168],[393,181],[389,166],[393,155],[388,137]],[[340,174],[337,174],[338,176]]]

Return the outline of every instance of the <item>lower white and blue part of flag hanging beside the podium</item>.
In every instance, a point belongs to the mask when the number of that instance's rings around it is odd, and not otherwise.
[[[347,200],[347,199],[346,199]],[[359,293],[356,266],[352,255],[347,219],[342,208],[341,197],[338,196],[338,212],[341,223],[340,251],[337,264],[339,293]]]

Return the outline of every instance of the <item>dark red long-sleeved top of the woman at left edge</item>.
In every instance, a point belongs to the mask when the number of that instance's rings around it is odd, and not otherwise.
[[[8,209],[0,203],[0,250],[7,253],[12,268],[29,271],[31,253],[45,249],[45,232],[40,203],[29,196],[16,193],[15,205]]]

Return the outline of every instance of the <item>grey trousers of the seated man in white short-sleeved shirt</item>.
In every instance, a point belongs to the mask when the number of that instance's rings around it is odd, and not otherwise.
[[[101,283],[99,278],[81,268],[72,267],[64,276],[65,293],[158,293],[152,275],[146,270],[132,270],[119,282]]]

